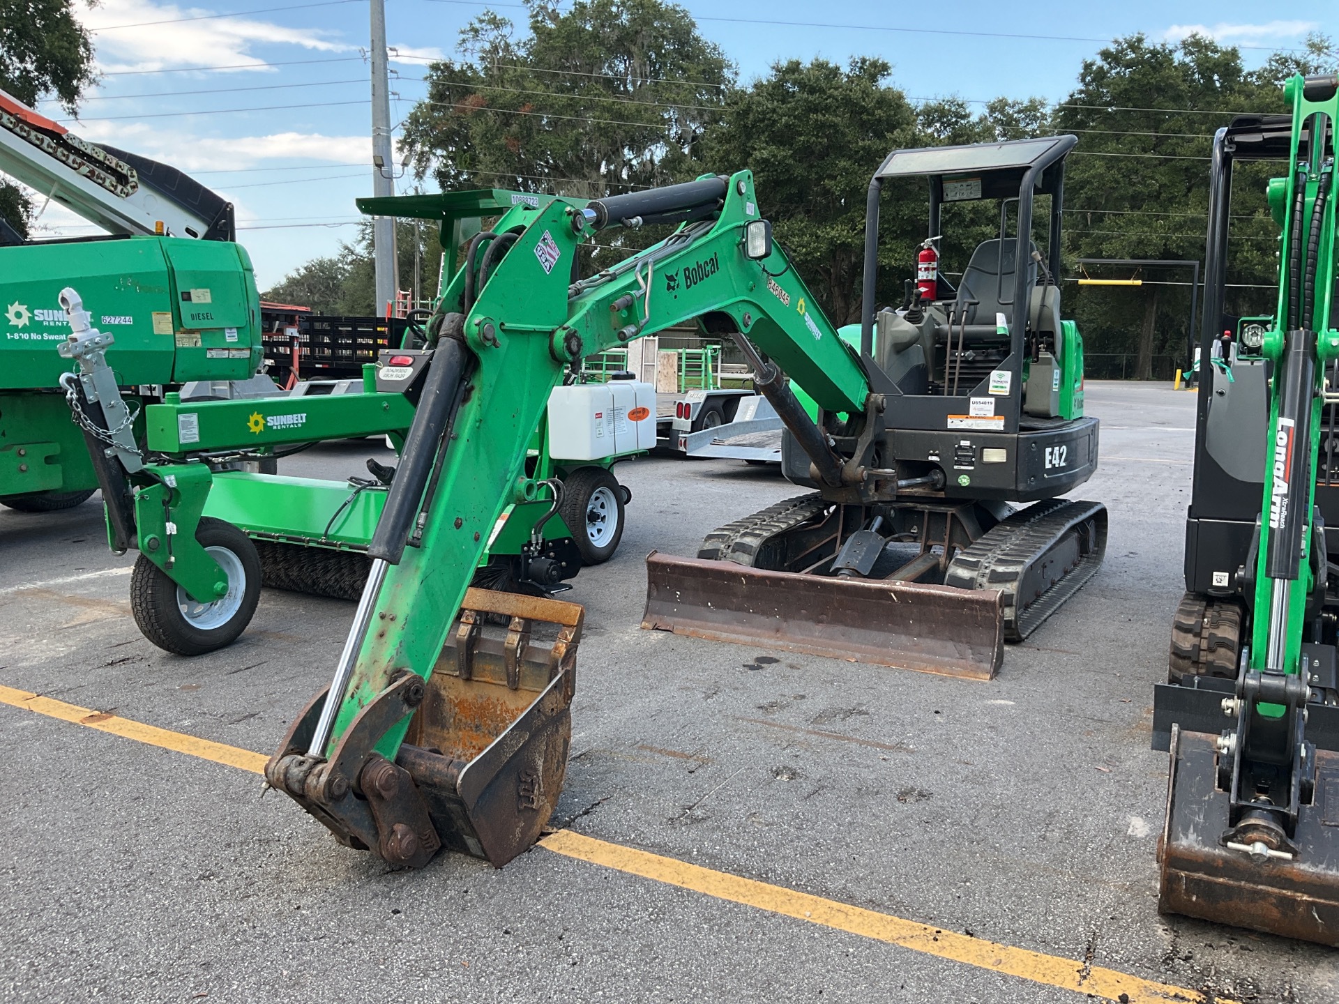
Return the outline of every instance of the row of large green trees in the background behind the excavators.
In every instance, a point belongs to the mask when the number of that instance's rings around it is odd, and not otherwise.
[[[1339,66],[1339,52],[1322,35],[1253,71],[1236,48],[1212,40],[1162,44],[1131,35],[1086,60],[1059,104],[998,98],[972,106],[951,96],[913,108],[889,64],[873,58],[846,67],[781,62],[736,86],[726,56],[700,37],[683,8],[663,0],[578,0],[566,12],[552,0],[528,0],[528,31],[517,33],[511,21],[486,12],[461,33],[458,58],[428,70],[428,96],[404,131],[420,177],[431,174],[443,189],[596,198],[747,167],[759,207],[797,270],[832,319],[849,323],[860,311],[865,193],[890,150],[1074,133],[1079,147],[1067,165],[1062,278],[1086,270],[1138,276],[1145,285],[1065,282],[1065,311],[1079,320],[1094,372],[1103,355],[1131,355],[1135,364],[1125,375],[1145,378],[1158,357],[1180,363],[1189,356],[1189,269],[1085,268],[1077,260],[1202,261],[1214,130],[1240,112],[1284,111],[1284,80]],[[1235,171],[1231,313],[1272,308],[1276,228],[1264,185],[1276,170],[1244,163]],[[885,185],[881,304],[900,303],[915,272],[916,246],[928,236],[927,202],[920,181]],[[1042,197],[1034,213],[1039,245],[1048,210]],[[999,228],[991,203],[945,205],[941,272],[952,280]],[[659,236],[655,229],[605,232],[595,264]],[[320,276],[341,269],[333,299],[341,311],[371,304],[366,244],[364,236],[335,260],[313,262]],[[408,272],[404,246],[402,237],[402,274]],[[437,253],[427,256],[434,269]],[[316,274],[305,278],[320,288]],[[1157,365],[1169,367],[1166,360]],[[1113,373],[1121,375],[1121,363]]]

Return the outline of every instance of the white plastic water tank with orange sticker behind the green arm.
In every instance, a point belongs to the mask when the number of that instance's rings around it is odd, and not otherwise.
[[[640,380],[554,387],[549,395],[549,455],[601,461],[656,444],[656,388]]]

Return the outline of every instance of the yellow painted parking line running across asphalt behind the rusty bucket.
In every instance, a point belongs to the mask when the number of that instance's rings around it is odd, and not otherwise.
[[[12,687],[0,685],[0,703],[27,708],[39,715],[58,718],[62,722],[96,728],[100,732],[111,732],[123,739],[134,739],[163,750],[238,767],[253,774],[261,774],[265,767],[266,758],[250,750],[240,750],[236,746],[225,746],[171,732],[166,728],[146,726],[118,715],[80,708],[76,704],[66,704]],[[836,900],[825,900],[819,896],[798,893],[794,889],[758,882],[753,878],[740,878],[727,871],[714,871],[676,858],[624,847],[620,843],[609,843],[595,837],[584,837],[572,830],[552,833],[540,841],[540,846],[554,854],[664,882],[679,889],[690,889],[716,900],[819,924],[834,930],[898,945],[912,952],[948,958],[977,969],[1006,973],[1075,993],[1119,1001],[1121,1004],[1154,1004],[1156,1001],[1208,1004],[1208,997],[1198,991],[1144,980],[1138,976],[1078,963],[1073,958],[1048,956],[1026,948],[1012,948],[969,934],[932,928],[928,924],[902,920],[888,913],[866,910]],[[1227,997],[1214,997],[1213,1001],[1214,1004],[1239,1004],[1239,1001]]]

